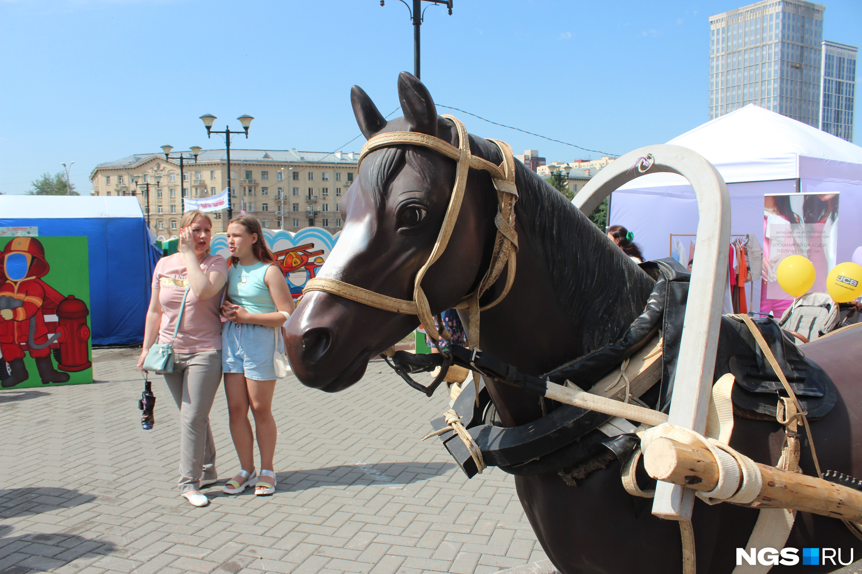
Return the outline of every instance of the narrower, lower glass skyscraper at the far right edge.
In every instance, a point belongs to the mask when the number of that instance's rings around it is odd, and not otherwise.
[[[853,100],[859,48],[823,41],[820,129],[853,141]]]

